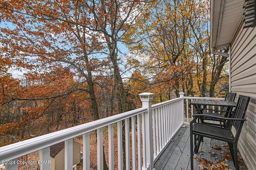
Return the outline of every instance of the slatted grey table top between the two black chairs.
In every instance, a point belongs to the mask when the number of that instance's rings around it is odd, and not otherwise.
[[[224,101],[224,100],[192,100],[192,105],[202,105],[202,106],[229,106],[236,107],[236,102]]]

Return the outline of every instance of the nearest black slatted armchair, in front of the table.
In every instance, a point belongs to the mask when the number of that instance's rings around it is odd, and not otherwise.
[[[230,154],[232,156],[232,160],[236,167],[236,170],[239,170],[238,158],[237,158],[237,143],[242,130],[242,126],[244,124],[244,119],[246,109],[248,107],[250,101],[250,97],[247,96],[239,96],[236,108],[234,110],[234,114],[232,114],[231,118],[228,117],[217,117],[214,115],[204,115],[204,114],[196,114],[193,115],[194,119],[190,122],[190,164],[191,170],[193,170],[193,156],[194,153],[198,152],[200,143],[202,142],[203,137],[208,137],[211,139],[216,139],[220,141],[227,142],[230,149]],[[196,122],[199,117],[212,117],[214,119],[223,119],[225,121],[230,121],[228,127],[216,127],[212,125],[207,125],[204,123]],[[232,128],[235,128],[236,133],[232,133]],[[194,135],[194,142],[193,142]],[[198,137],[198,139],[197,139]],[[193,147],[194,144],[194,147]]]

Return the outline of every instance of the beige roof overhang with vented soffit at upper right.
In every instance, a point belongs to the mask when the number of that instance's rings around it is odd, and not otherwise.
[[[244,0],[211,0],[211,48],[230,45],[243,18]]]

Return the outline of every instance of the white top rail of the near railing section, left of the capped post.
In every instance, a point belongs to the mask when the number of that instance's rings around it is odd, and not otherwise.
[[[96,129],[111,125],[118,121],[124,120],[126,118],[138,115],[147,111],[147,107],[142,107],[139,109],[134,109],[118,115],[113,115],[96,121],[91,121],[82,125],[70,127],[18,143],[13,143],[4,147],[0,147],[0,159],[1,160],[12,160],[20,156],[29,154],[31,152],[50,147],[67,139],[72,139],[84,133],[94,131]]]

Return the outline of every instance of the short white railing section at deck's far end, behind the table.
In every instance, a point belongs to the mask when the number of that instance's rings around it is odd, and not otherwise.
[[[194,107],[191,106],[191,102],[195,99],[200,99],[200,100],[224,100],[224,98],[206,98],[206,97],[188,97],[185,96],[184,100],[186,100],[186,105],[184,108],[184,124],[189,125],[191,121],[192,115],[195,113]],[[206,107],[209,109],[209,106]],[[220,110],[220,108],[218,108]],[[214,113],[214,111],[213,111]]]

